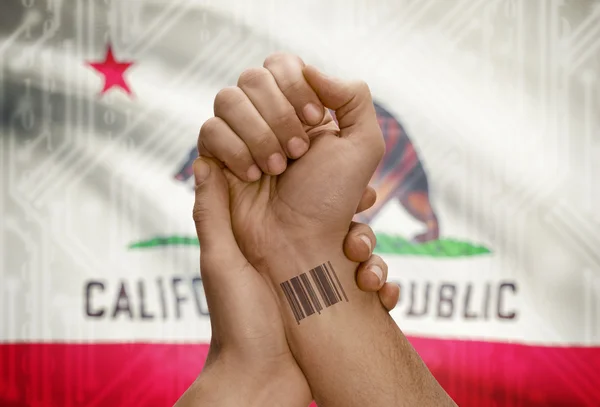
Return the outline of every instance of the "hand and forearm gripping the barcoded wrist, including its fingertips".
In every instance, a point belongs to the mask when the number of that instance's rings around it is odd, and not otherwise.
[[[293,109],[289,113],[298,120]],[[213,159],[209,161],[209,169],[213,168],[196,188],[194,219],[202,247],[201,272],[213,335],[202,374],[176,405],[306,406],[312,395],[287,345],[276,296],[243,257],[231,231],[227,181],[220,168],[224,163],[219,160],[237,156],[247,162],[246,166],[255,165],[250,156],[253,147],[240,137],[237,140],[246,146],[243,151],[248,156],[236,155],[239,143],[216,143],[218,148],[211,150]],[[242,168],[242,173],[246,170]],[[375,201],[375,191],[367,187],[357,213],[369,209]],[[351,261],[362,262],[356,274],[352,270],[351,277],[356,278],[358,286],[378,292],[381,304],[391,310],[398,302],[399,288],[385,283],[387,266],[379,256],[372,255],[375,244],[368,225],[352,223],[340,248]],[[370,271],[372,266],[383,270],[381,278]]]

